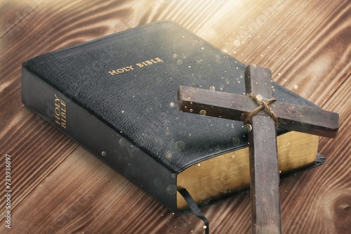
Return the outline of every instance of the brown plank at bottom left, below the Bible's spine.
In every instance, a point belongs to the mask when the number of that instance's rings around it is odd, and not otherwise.
[[[160,220],[164,212],[161,206],[147,209],[157,202],[80,147],[22,203],[13,211],[15,233],[152,233],[153,226],[143,226],[146,214],[158,213]],[[133,207],[147,210],[131,226],[126,220],[137,218]],[[0,226],[1,233],[6,230]]]

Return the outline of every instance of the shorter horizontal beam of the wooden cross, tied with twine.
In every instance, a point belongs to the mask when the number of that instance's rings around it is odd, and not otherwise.
[[[236,93],[188,86],[180,86],[178,89],[178,109],[183,112],[199,113],[204,110],[208,116],[244,121],[257,106],[256,101],[249,96]],[[271,103],[270,108],[277,115],[282,129],[330,138],[338,134],[339,115],[335,112],[282,103],[279,100]],[[257,115],[268,114],[265,110],[260,110]]]

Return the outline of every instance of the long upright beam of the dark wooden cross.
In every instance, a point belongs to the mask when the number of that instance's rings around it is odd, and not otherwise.
[[[263,100],[272,98],[270,70],[251,65],[246,67],[245,77],[246,93],[262,97]],[[268,115],[254,115],[250,124],[252,232],[282,233],[276,123]]]

